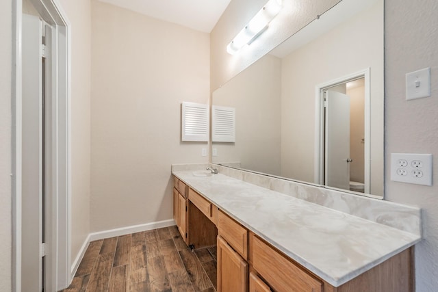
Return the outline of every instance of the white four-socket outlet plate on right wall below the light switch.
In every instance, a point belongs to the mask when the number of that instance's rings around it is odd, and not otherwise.
[[[432,155],[391,153],[391,181],[432,185]]]

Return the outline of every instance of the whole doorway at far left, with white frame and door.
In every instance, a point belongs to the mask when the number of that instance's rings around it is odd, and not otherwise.
[[[12,289],[59,291],[71,279],[70,25],[57,1],[13,8]]]

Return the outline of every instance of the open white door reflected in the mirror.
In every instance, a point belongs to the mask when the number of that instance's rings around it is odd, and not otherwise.
[[[350,97],[329,90],[324,98],[325,185],[350,189]]]

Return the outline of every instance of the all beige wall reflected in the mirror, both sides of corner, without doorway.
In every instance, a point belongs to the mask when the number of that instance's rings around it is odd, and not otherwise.
[[[217,156],[212,161],[240,162],[247,170],[319,183],[315,86],[366,68],[371,96],[370,194],[383,196],[383,1],[292,53],[274,49],[216,90],[214,105],[236,107],[236,142],[214,142]]]

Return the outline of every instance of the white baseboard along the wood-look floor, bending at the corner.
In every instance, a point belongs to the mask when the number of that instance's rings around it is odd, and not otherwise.
[[[83,245],[81,246],[81,250],[79,250],[75,258],[75,261],[73,262],[73,265],[71,265],[71,279],[73,279],[73,277],[75,276],[77,268],[79,267],[79,264],[81,263],[82,258],[91,241],[116,237],[120,235],[127,235],[131,233],[139,233],[142,231],[153,230],[157,228],[169,227],[174,225],[175,225],[175,220],[170,219],[170,220],[151,222],[146,224],[139,224],[139,225],[122,227],[122,228],[110,229],[110,230],[103,230],[96,233],[90,233],[88,237],[85,239],[85,241],[83,242]]]

